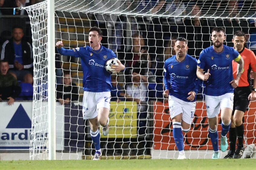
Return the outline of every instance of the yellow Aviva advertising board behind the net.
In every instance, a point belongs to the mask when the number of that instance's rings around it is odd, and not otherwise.
[[[137,137],[137,103],[110,102],[109,133],[101,138],[136,138]]]

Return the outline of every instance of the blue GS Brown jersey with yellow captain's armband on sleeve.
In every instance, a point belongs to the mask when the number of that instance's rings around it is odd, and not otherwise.
[[[234,88],[229,83],[233,80],[232,60],[239,61],[241,56],[234,48],[223,45],[222,52],[216,52],[213,46],[203,49],[199,55],[197,66],[208,71],[210,77],[205,83],[205,94],[209,96],[221,96],[233,93]]]

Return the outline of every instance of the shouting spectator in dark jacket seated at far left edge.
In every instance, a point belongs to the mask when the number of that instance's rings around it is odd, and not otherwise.
[[[14,99],[21,93],[21,87],[8,70],[8,61],[0,61],[0,102],[9,99],[8,105],[12,105]]]

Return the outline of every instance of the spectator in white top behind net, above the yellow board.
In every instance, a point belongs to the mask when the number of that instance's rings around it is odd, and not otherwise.
[[[148,81],[147,77],[140,75],[136,72],[133,72],[132,76],[133,83],[126,84],[126,99],[128,101],[135,101],[137,102],[137,111],[138,112],[145,112],[146,105],[142,105],[143,102],[146,102],[146,97],[148,93]]]

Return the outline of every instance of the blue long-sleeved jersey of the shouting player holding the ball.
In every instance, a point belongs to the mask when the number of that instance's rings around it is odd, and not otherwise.
[[[84,91],[111,91],[111,75],[105,69],[106,61],[117,57],[111,49],[101,46],[99,50],[94,50],[90,46],[85,46],[70,50],[61,48],[58,52],[61,55],[80,57]]]

